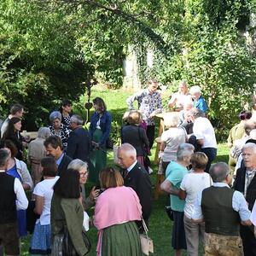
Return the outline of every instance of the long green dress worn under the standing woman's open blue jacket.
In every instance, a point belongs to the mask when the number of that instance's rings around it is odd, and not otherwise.
[[[99,143],[102,138],[102,130],[96,129],[93,133],[92,141]],[[89,180],[92,183],[99,184],[99,172],[107,165],[107,149],[96,149],[90,154],[90,176]]]

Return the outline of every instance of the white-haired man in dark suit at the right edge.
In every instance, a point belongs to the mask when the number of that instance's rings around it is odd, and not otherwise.
[[[256,145],[247,143],[241,149],[244,166],[237,170],[234,189],[240,191],[246,198],[248,208],[253,210],[256,199]],[[252,226],[242,226],[240,234],[245,256],[256,256],[256,238]]]

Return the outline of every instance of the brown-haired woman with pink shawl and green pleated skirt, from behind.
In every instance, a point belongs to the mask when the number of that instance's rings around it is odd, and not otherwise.
[[[118,170],[107,167],[100,172],[102,194],[95,207],[94,224],[98,232],[97,255],[142,256],[135,221],[142,218],[136,192],[124,186]]]

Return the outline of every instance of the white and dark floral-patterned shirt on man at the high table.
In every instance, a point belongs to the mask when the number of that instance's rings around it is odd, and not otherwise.
[[[138,102],[138,108],[143,113],[143,119],[146,121],[147,125],[154,125],[154,119],[150,119],[149,115],[151,113],[156,114],[162,112],[160,93],[154,91],[154,93],[150,94],[148,89],[137,92],[126,100],[130,110],[134,109],[134,101]]]

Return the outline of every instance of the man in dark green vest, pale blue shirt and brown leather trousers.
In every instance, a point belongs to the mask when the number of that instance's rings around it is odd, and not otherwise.
[[[240,223],[250,225],[244,196],[230,189],[230,170],[226,163],[211,166],[213,185],[202,190],[195,201],[192,219],[205,221],[205,255],[243,255]]]

